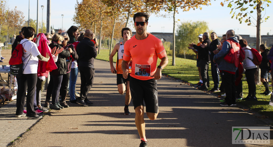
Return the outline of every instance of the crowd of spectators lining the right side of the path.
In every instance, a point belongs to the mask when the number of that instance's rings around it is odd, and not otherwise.
[[[200,37],[202,36],[202,39]],[[252,48],[248,46],[247,40],[242,39],[240,35],[235,35],[234,30],[228,30],[226,34],[219,40],[215,32],[205,32],[198,36],[199,43],[189,44],[189,49],[192,49],[197,54],[197,67],[200,75],[200,80],[195,86],[200,90],[208,90],[209,74],[208,68],[211,64],[211,77],[213,79],[213,87],[209,91],[211,92],[223,92],[225,97],[220,100],[222,106],[235,106],[236,100],[257,101],[256,97],[256,84],[255,74],[260,68],[261,83],[265,86],[265,92],[261,93],[265,96],[271,95],[269,90],[269,78],[271,72],[271,61],[273,60],[273,49],[269,51],[267,47],[260,45],[260,55],[262,56],[262,62],[257,66],[253,61],[256,60],[253,54]],[[236,51],[236,61],[228,62],[227,54]],[[240,53],[241,52],[241,53]],[[235,54],[235,53],[234,53]],[[240,57],[244,56],[244,59],[240,61]],[[238,56],[237,56],[238,55]],[[240,55],[240,57],[239,57]],[[258,70],[257,70],[258,69]],[[245,74],[248,84],[248,95],[244,98],[242,88],[242,77]],[[221,84],[220,84],[220,76]],[[219,86],[220,85],[220,86]]]

